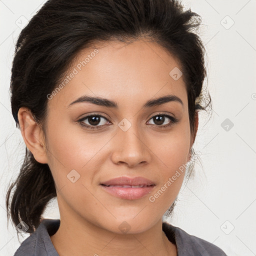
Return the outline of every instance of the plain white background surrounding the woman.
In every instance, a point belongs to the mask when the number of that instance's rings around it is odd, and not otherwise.
[[[25,148],[10,110],[11,61],[17,35],[43,2],[0,0],[2,256],[13,255],[19,246],[15,229],[11,225],[7,229],[4,200]],[[183,4],[202,17],[199,35],[207,51],[213,111],[209,122],[200,115],[194,145],[201,152],[203,168],[195,164],[195,176],[181,188],[174,216],[168,221],[216,244],[227,255],[256,255],[256,0],[194,0]],[[227,131],[221,126],[226,118],[234,124]],[[44,216],[59,217],[54,201]]]

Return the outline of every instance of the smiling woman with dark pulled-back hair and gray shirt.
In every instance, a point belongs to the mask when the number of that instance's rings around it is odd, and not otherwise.
[[[162,222],[210,105],[199,24],[173,0],[49,0],[21,31],[10,89],[26,155],[6,205],[31,235],[15,256],[225,255]],[[55,196],[60,220],[42,219]]]

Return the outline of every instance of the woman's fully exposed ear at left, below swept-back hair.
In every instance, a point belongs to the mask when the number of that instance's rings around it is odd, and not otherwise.
[[[26,147],[36,161],[47,163],[44,135],[41,127],[34,120],[32,113],[26,107],[18,109],[18,122]]]

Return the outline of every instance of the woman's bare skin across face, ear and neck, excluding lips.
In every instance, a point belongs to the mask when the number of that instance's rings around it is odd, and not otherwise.
[[[139,39],[96,46],[99,52],[48,100],[46,134],[29,109],[18,111],[26,146],[38,162],[49,165],[55,181],[61,223],[51,241],[60,256],[177,255],[175,244],[162,231],[162,216],[176,198],[184,173],[154,202],[148,198],[190,158],[194,137],[185,84],[182,76],[174,80],[169,75],[174,67],[181,68],[155,42]],[[80,51],[70,70],[92,51]],[[166,94],[179,97],[183,106],[170,101],[142,108],[147,100]],[[89,102],[68,107],[82,95],[114,100],[118,108]],[[109,121],[101,117],[95,130],[77,122],[95,112]],[[163,124],[155,123],[152,116],[159,112],[176,117],[178,122],[160,128],[171,120],[166,117]],[[123,118],[131,124],[127,131],[118,126]],[[92,126],[88,119],[83,123]],[[196,115],[195,130],[197,126]],[[67,178],[72,169],[80,175],[74,183]],[[99,185],[119,176],[146,177],[156,186],[148,195],[128,200],[106,193]],[[130,228],[125,233],[118,228],[123,221]]]

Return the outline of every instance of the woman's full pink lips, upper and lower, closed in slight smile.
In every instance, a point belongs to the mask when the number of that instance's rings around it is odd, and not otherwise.
[[[155,186],[152,180],[143,177],[117,177],[100,183],[107,193],[122,199],[138,199],[150,191]]]

